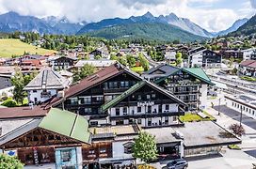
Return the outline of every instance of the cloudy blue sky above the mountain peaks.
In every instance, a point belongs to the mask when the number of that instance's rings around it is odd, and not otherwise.
[[[249,18],[256,13],[255,8],[256,0],[0,0],[0,13],[66,16],[72,22],[128,18],[147,11],[154,16],[173,12],[208,31],[220,31],[237,19]]]

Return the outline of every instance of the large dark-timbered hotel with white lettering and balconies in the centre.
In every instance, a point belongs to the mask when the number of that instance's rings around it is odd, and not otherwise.
[[[129,101],[123,103],[124,100]],[[138,120],[143,126],[152,126],[177,123],[177,116],[183,115],[184,102],[117,63],[72,85],[65,90],[64,98],[53,100],[50,105],[86,115],[90,125],[131,124]],[[112,114],[116,108],[123,120],[119,121],[117,112]],[[136,116],[128,120],[133,115]]]

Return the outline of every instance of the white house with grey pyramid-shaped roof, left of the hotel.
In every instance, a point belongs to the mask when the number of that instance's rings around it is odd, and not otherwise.
[[[29,102],[40,103],[50,100],[70,83],[55,70],[45,68],[24,87],[24,90],[27,91]]]

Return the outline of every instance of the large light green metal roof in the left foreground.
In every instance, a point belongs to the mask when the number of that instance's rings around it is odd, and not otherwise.
[[[39,127],[84,143],[89,142],[88,120],[69,111],[52,108],[48,115],[42,118]]]

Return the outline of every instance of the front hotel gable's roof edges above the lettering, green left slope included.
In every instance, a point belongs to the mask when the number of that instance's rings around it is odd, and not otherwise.
[[[139,88],[143,87],[144,85],[149,85],[152,88],[158,90],[159,92],[163,93],[164,95],[168,96],[168,98],[171,98],[172,100],[176,100],[177,102],[179,102],[180,104],[186,105],[184,103],[184,101],[179,100],[177,97],[175,97],[172,93],[170,93],[168,90],[165,90],[161,87],[159,87],[157,84],[152,84],[151,82],[148,81],[140,81],[137,84],[133,85],[132,87],[130,87],[128,90],[126,90],[124,93],[122,93],[120,96],[118,96],[117,98],[115,98],[114,100],[111,100],[107,103],[105,103],[101,109],[102,111],[106,111],[107,109],[117,105],[121,100],[124,100],[126,97],[132,95],[133,93],[136,92],[136,90],[138,90]]]

